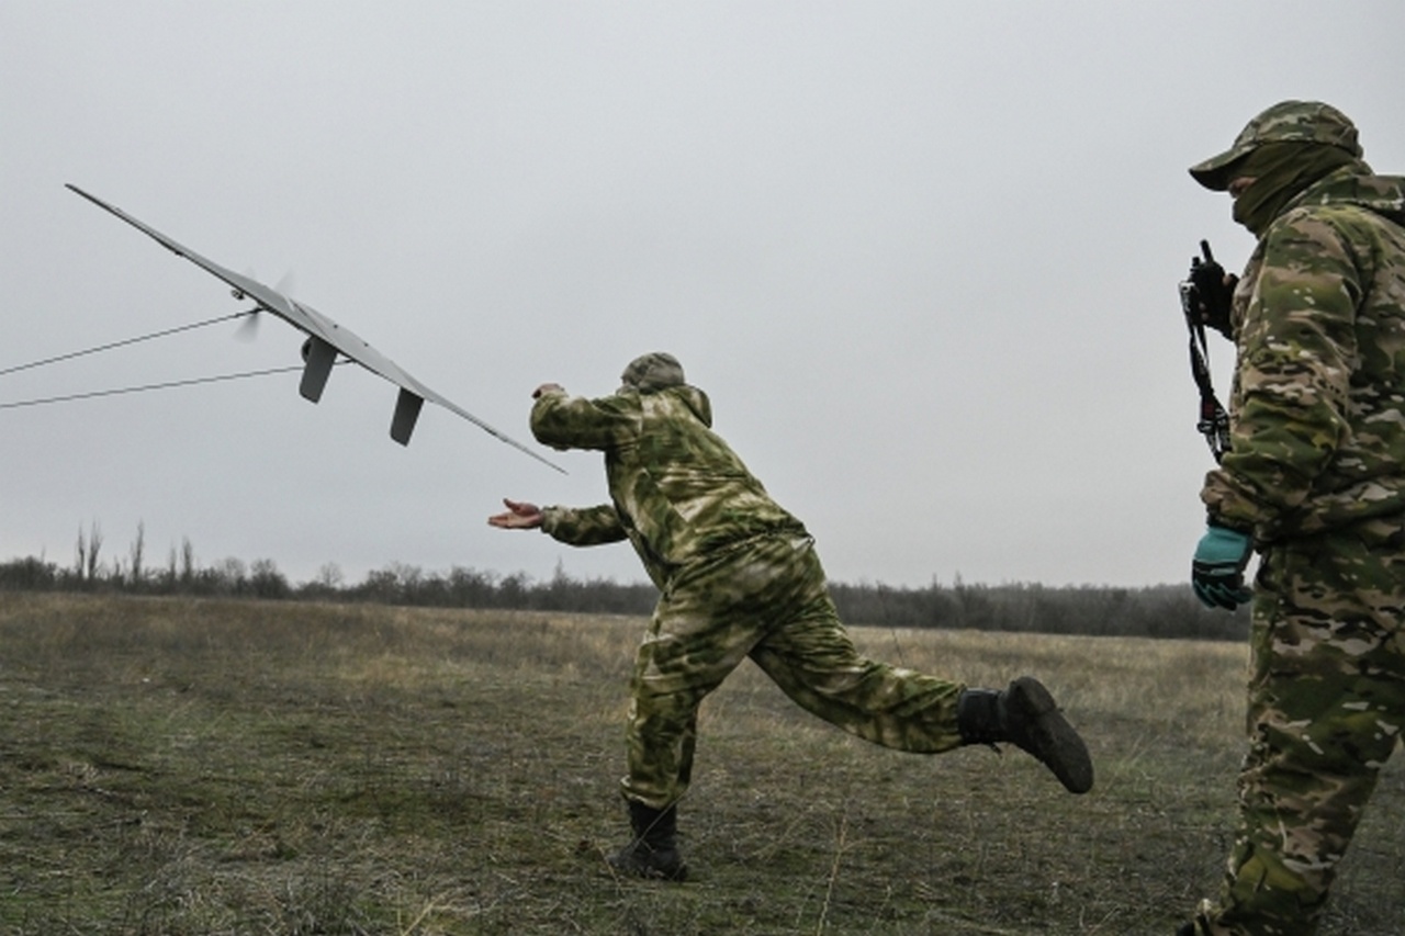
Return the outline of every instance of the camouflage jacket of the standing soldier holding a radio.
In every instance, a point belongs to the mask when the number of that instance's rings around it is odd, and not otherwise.
[[[1284,207],[1235,292],[1213,520],[1260,542],[1405,513],[1405,178],[1342,169]]]

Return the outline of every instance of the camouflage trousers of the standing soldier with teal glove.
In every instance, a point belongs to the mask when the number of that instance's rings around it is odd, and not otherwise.
[[[1399,520],[1272,547],[1253,599],[1239,828],[1197,932],[1316,932],[1405,722]]]

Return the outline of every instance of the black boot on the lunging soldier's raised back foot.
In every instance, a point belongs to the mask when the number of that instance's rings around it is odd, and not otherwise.
[[[957,701],[957,725],[968,745],[1005,741],[1034,755],[1069,793],[1093,788],[1093,762],[1083,739],[1033,676],[1020,676],[1005,691],[965,690]]]

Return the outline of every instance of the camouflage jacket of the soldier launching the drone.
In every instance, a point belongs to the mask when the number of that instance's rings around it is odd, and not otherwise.
[[[729,545],[806,535],[711,426],[712,406],[695,386],[627,386],[599,399],[542,394],[531,410],[537,441],[603,451],[611,498],[597,507],[547,507],[542,531],[572,545],[628,538],[660,589]]]

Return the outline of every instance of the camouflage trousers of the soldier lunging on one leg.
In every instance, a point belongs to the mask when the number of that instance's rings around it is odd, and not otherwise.
[[[698,706],[750,658],[802,708],[860,738],[937,753],[961,743],[964,686],[865,659],[839,623],[809,540],[759,538],[669,582],[635,661],[624,795],[688,787]]]

